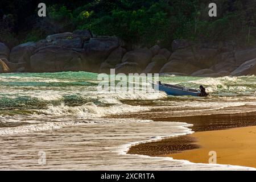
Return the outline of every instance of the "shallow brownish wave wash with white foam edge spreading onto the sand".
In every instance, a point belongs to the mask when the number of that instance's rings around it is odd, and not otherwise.
[[[46,125],[38,125],[41,126],[40,130],[38,127],[20,126],[2,132],[0,140],[4,148],[0,150],[2,154],[0,168],[5,166],[8,169],[255,170],[241,166],[196,164],[168,157],[126,154],[129,147],[134,144],[193,133],[188,129],[191,125],[187,123],[108,118],[85,122],[87,123],[72,123],[72,125],[61,123],[61,126],[56,123],[46,123]],[[68,127],[63,128],[63,125]],[[49,127],[58,129],[58,132],[31,133]],[[30,133],[27,133],[28,131]],[[13,134],[20,132],[23,134],[15,135],[16,138],[10,145],[8,141],[14,138]],[[20,140],[26,144],[17,148],[16,145]],[[37,155],[42,147],[47,152],[47,156],[54,156],[51,160],[47,160],[46,165],[31,165],[30,161],[23,160],[28,156]],[[5,150],[14,151],[14,154],[10,156]],[[63,156],[68,159],[67,163],[63,162]]]

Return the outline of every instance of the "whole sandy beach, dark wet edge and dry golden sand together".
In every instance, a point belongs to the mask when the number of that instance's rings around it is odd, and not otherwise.
[[[214,150],[217,152],[219,164],[256,167],[255,112],[154,120],[192,123],[191,128],[196,132],[191,135],[138,144],[130,148],[129,154],[171,156],[174,159],[185,159],[195,163],[208,163],[210,157],[208,153]]]

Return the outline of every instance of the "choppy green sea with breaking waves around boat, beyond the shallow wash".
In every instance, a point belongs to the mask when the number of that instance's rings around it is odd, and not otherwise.
[[[113,114],[112,111],[108,113],[108,107],[114,107],[114,105],[120,107],[124,101],[130,101],[131,105],[138,107],[141,105],[140,101],[143,101],[142,105],[147,105],[147,108],[143,109],[151,109],[150,106],[158,106],[159,103],[175,107],[179,105],[187,107],[203,105],[206,107],[210,103],[214,107],[214,104],[216,106],[222,102],[225,102],[226,105],[230,104],[230,106],[255,102],[255,76],[221,78],[164,76],[159,80],[191,88],[199,88],[200,85],[204,85],[210,97],[167,97],[164,93],[99,93],[97,74],[88,72],[6,73],[0,75],[0,114],[2,117],[19,114],[55,116],[57,111],[54,113],[53,107],[56,109],[66,107],[69,109],[60,109],[60,113],[63,111],[65,114],[70,113],[76,117],[75,111],[71,110],[89,104],[90,107],[93,105],[96,111],[85,109],[83,117],[86,118],[86,114],[88,114],[90,118],[95,112],[97,113],[97,109],[105,109],[102,115]],[[123,107],[126,106],[131,108],[129,105],[123,105]],[[133,111],[133,109],[127,111]],[[122,112],[121,109],[120,113]],[[82,114],[80,111],[79,113]],[[118,114],[118,110],[114,114]]]

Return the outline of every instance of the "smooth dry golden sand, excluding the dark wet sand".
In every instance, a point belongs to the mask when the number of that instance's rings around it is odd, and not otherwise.
[[[256,126],[196,132],[191,137],[196,138],[195,143],[200,148],[165,156],[193,163],[208,163],[209,151],[216,151],[218,164],[256,168]]]

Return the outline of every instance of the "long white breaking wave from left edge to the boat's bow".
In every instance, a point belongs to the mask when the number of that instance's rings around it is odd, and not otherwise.
[[[30,88],[30,89],[28,89]],[[26,92],[24,92],[26,90]],[[61,89],[55,87],[40,86],[20,86],[20,87],[6,87],[0,88],[2,97],[16,98],[16,97],[32,97],[38,98],[41,101],[56,101],[61,100],[64,96],[80,96],[82,98],[94,98],[98,100],[156,100],[166,98],[167,95],[164,92],[151,92],[146,93],[142,91],[138,92],[98,92],[94,86],[69,86],[67,88],[62,87]],[[11,93],[11,94],[10,94]],[[112,104],[116,104],[113,102]]]

